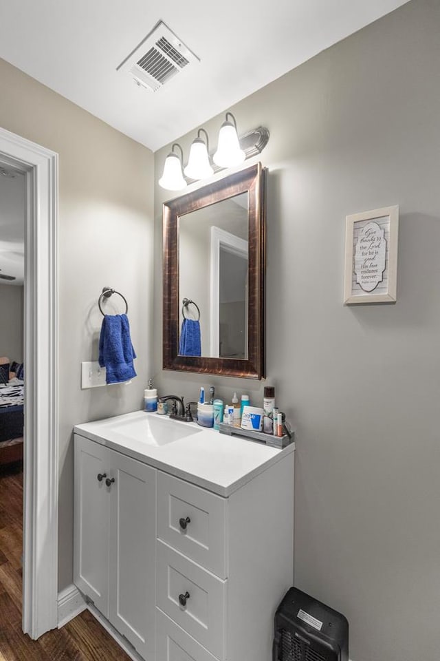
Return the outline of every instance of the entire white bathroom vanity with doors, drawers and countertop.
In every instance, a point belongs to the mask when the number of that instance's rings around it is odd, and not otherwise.
[[[146,661],[269,661],[294,578],[294,445],[203,430],[164,449],[102,428],[76,427],[77,587]]]

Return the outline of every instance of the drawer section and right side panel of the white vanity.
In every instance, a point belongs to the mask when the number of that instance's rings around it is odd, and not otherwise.
[[[272,658],[293,583],[293,457],[228,498],[158,472],[157,661]]]

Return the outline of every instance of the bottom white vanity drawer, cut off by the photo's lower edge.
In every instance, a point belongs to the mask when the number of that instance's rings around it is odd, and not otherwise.
[[[161,610],[157,613],[157,646],[158,661],[217,661],[204,647],[188,636],[183,629],[177,627]]]

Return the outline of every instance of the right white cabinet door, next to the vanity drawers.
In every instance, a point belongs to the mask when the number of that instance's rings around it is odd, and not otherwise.
[[[156,471],[110,450],[109,620],[140,655],[155,653]]]

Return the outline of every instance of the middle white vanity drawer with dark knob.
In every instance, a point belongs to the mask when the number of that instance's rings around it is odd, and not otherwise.
[[[157,606],[220,660],[226,581],[157,541]],[[179,596],[186,597],[181,604]]]

